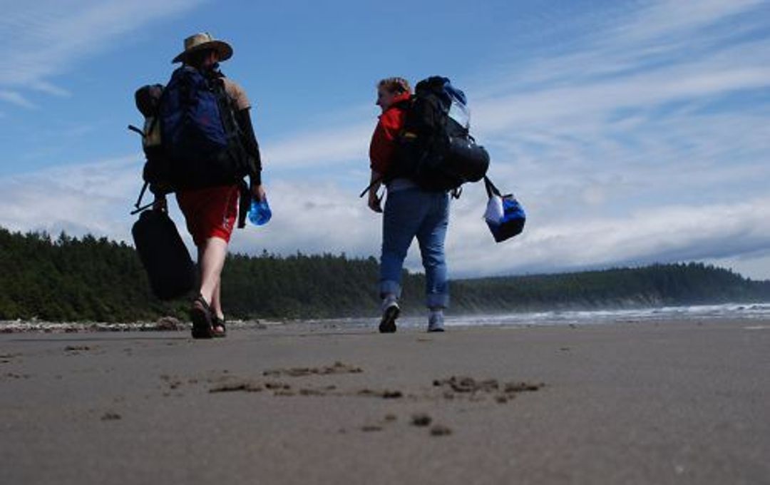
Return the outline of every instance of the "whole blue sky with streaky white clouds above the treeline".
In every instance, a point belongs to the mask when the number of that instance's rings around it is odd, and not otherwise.
[[[253,101],[275,214],[236,251],[377,255],[357,199],[373,85],[441,74],[529,216],[495,245],[467,187],[454,276],[697,260],[770,278],[767,0],[27,4],[0,4],[0,226],[129,241],[133,92],[208,31],[235,49],[223,71]]]

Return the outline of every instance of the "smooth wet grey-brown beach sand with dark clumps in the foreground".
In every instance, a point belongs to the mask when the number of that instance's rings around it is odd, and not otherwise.
[[[0,335],[0,483],[770,483],[770,322]]]

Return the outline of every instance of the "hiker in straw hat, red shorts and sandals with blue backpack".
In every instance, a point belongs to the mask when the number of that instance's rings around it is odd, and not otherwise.
[[[219,62],[232,55],[229,44],[208,33],[186,38],[184,51],[172,60],[182,66],[159,107],[164,149],[176,172],[176,200],[198,249],[199,294],[190,308],[194,338],[225,336],[220,276],[227,246],[236,216],[243,227],[250,199],[266,198],[249,99],[219,71]],[[156,206],[165,204],[156,192]]]

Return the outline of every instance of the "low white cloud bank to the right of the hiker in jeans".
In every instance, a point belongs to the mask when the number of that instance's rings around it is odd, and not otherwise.
[[[474,219],[479,208],[457,210],[450,253],[457,270],[541,272],[682,260],[714,260],[770,247],[770,199],[731,205],[659,206],[621,217],[549,223],[537,214],[522,236],[490,247]],[[499,268],[499,269],[496,269]],[[766,277],[766,276],[765,276]]]

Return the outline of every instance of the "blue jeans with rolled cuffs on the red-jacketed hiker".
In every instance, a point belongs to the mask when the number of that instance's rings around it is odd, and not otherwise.
[[[388,192],[383,214],[383,250],[380,257],[380,296],[401,296],[403,259],[417,236],[426,279],[426,305],[449,305],[444,239],[449,225],[449,195],[417,188]]]

